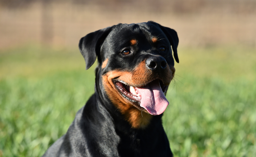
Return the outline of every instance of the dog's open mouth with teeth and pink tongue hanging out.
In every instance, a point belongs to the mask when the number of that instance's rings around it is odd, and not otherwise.
[[[120,94],[131,102],[137,102],[152,115],[163,113],[169,102],[165,94],[168,86],[159,79],[151,81],[143,87],[133,87],[123,81],[114,80]]]

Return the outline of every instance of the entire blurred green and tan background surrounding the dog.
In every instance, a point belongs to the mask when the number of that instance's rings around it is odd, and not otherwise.
[[[0,157],[43,155],[93,94],[81,37],[147,21],[180,39],[174,155],[256,156],[256,0],[0,0]]]

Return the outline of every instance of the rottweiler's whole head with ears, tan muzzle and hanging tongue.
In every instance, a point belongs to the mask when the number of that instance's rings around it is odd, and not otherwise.
[[[99,80],[107,97],[136,127],[147,125],[151,115],[163,113],[169,104],[165,95],[175,73],[171,48],[178,62],[177,45],[173,29],[147,22],[118,24],[90,33],[80,40],[79,47],[87,69],[98,57]],[[141,116],[142,111],[150,115],[141,121],[136,115]]]

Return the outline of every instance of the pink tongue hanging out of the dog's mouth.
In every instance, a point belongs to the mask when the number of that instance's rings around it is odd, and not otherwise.
[[[141,94],[140,106],[152,115],[163,113],[169,105],[158,80],[155,80],[144,87],[136,87],[136,89]]]

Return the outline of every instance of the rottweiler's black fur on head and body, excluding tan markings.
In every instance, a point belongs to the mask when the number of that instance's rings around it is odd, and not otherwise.
[[[161,39],[161,44],[150,43],[152,36]],[[129,41],[133,38],[139,39],[139,44],[130,46]],[[157,51],[161,45],[166,45],[166,52]],[[173,156],[162,126],[162,114],[154,116],[144,129],[132,128],[110,102],[101,76],[115,69],[133,70],[141,61],[154,54],[163,56],[168,65],[174,65],[171,46],[178,62],[177,45],[176,31],[151,21],[117,24],[81,38],[79,48],[85,58],[86,69],[98,58],[95,93],[78,111],[67,133],[50,146],[43,157]],[[127,47],[133,54],[123,56],[121,52]],[[102,62],[106,58],[107,67],[102,69]]]

